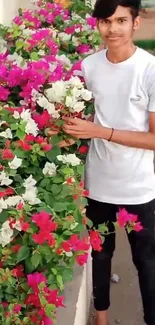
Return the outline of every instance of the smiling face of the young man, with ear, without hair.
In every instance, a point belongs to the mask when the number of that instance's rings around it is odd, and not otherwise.
[[[106,19],[99,19],[98,30],[108,48],[119,48],[128,44],[140,25],[140,17],[133,20],[130,8],[118,6],[115,13]]]

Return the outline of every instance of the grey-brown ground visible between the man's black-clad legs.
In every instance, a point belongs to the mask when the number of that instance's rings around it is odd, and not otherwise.
[[[126,234],[117,234],[117,249],[113,273],[120,276],[118,284],[111,285],[110,325],[143,325],[143,313],[137,272],[132,264]],[[94,325],[93,309],[89,325]]]

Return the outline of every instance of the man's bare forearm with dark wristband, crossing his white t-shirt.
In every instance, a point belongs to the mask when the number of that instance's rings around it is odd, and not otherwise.
[[[101,127],[98,138],[108,140],[111,132],[111,128]],[[114,130],[111,142],[126,147],[155,150],[155,133]]]

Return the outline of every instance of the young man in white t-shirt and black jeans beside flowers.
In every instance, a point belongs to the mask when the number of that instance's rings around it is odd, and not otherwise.
[[[94,121],[66,119],[66,133],[90,139],[86,163],[87,215],[94,226],[116,220],[119,207],[138,215],[144,229],[128,235],[138,270],[144,320],[155,325],[155,58],[136,48],[140,0],[98,0],[93,16],[107,50],[83,61],[95,99]],[[115,235],[93,252],[96,325],[108,325]]]

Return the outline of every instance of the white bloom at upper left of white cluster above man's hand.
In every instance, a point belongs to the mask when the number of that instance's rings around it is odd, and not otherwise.
[[[46,96],[52,103],[62,103],[64,97],[66,96],[66,84],[64,81],[56,81],[52,88],[45,91]]]

